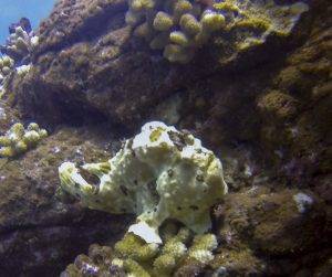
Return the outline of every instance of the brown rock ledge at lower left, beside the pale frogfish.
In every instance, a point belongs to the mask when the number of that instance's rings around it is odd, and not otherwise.
[[[106,158],[102,134],[61,128],[20,158],[0,159],[1,276],[59,276],[90,244],[122,235],[129,216],[86,211],[55,196],[63,159]]]

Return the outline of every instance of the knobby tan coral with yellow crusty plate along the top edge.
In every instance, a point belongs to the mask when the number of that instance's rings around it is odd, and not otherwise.
[[[210,39],[220,49],[241,52],[264,43],[270,34],[286,36],[308,10],[302,2],[277,6],[272,0],[128,0],[128,6],[126,23],[136,29],[134,33],[178,63],[189,62]],[[160,35],[163,43],[156,47],[154,41]]]

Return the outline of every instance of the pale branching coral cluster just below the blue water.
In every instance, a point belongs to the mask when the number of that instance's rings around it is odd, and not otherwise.
[[[39,38],[31,31],[29,20],[28,25],[23,24],[24,22],[10,28],[11,33],[7,43],[0,47],[1,52],[9,55],[15,64],[29,63],[30,54],[39,43]]]

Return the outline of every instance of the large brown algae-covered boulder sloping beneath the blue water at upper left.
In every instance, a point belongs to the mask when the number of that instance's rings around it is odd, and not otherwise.
[[[59,1],[40,26],[33,68],[14,87],[24,115],[56,124],[94,113],[133,128],[174,92],[225,66],[251,67],[282,49],[270,43],[230,58],[220,47],[222,53],[207,47],[198,51],[195,66],[174,66],[133,35],[127,9],[121,0]],[[219,63],[219,56],[227,61]]]

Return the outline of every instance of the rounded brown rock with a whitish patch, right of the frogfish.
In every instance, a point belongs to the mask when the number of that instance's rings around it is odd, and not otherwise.
[[[229,195],[226,223],[231,232],[267,255],[305,253],[326,237],[321,201],[297,190],[269,192],[253,188]]]

